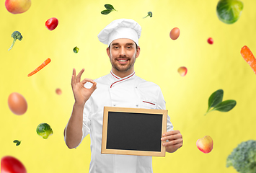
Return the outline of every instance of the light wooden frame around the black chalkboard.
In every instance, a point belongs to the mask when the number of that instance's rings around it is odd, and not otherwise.
[[[142,108],[128,108],[128,107],[104,107],[103,125],[102,125],[102,154],[125,154],[137,156],[165,156],[165,146],[162,145],[161,136],[161,151],[138,151],[138,150],[125,150],[125,149],[110,149],[107,148],[107,128],[108,128],[108,113],[109,112],[130,112],[139,114],[154,114],[162,115],[162,134],[167,131],[167,110],[153,110]],[[118,140],[118,137],[117,137]]]

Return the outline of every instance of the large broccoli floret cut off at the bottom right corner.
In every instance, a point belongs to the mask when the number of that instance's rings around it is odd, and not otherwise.
[[[240,143],[226,159],[226,167],[233,166],[239,173],[256,172],[256,141]]]

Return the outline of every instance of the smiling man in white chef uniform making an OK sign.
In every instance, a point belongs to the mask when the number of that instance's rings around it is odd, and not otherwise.
[[[69,148],[79,146],[85,136],[91,138],[91,163],[89,173],[151,173],[151,156],[101,154],[102,120],[104,107],[131,107],[165,110],[165,101],[160,87],[153,82],[136,76],[134,63],[140,54],[138,38],[141,26],[133,19],[117,19],[105,27],[98,38],[106,44],[112,69],[110,74],[98,79],[76,76],[73,68],[71,86],[75,103],[64,138]],[[145,67],[141,67],[145,68]],[[118,136],[116,136],[118,140]],[[173,130],[167,116],[167,133],[159,140],[164,141],[166,151],[177,151],[182,146],[182,135]],[[145,146],[147,143],[145,143]]]

